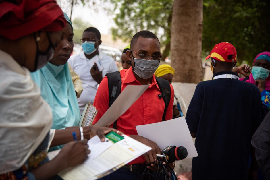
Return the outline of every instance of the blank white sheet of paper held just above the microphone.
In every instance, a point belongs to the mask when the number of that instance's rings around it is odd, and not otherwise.
[[[186,158],[198,156],[185,117],[139,125],[136,126],[136,129],[138,135],[156,142],[161,149],[165,149],[167,146],[184,146],[188,150]]]

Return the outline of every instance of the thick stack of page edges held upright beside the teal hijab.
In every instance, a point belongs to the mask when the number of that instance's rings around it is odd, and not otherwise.
[[[96,107],[94,107],[90,102],[88,102],[84,107],[79,126],[84,127],[92,125],[97,115],[97,112],[98,110],[96,109]]]

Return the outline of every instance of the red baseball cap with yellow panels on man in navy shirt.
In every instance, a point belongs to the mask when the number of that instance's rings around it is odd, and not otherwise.
[[[205,59],[209,59],[210,57],[218,61],[235,63],[237,57],[236,49],[229,42],[221,42],[214,46],[210,55],[208,55]]]

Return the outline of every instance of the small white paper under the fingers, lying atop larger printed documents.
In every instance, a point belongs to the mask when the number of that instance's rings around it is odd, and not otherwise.
[[[99,156],[101,153],[103,153],[106,149],[111,147],[113,145],[112,142],[107,142],[108,138],[106,138],[105,142],[101,142],[99,139],[99,136],[94,136],[88,141],[88,146],[91,151],[90,154],[88,154],[88,159],[84,161],[84,164],[90,163],[92,160],[94,160],[97,156]]]

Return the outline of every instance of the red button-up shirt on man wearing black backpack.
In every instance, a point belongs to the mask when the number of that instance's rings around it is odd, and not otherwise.
[[[129,69],[123,69],[120,71],[120,74],[122,78],[122,91],[126,88],[127,85],[141,85],[141,83],[134,76],[132,67]],[[138,135],[135,127],[136,125],[151,124],[162,121],[165,103],[163,98],[159,99],[158,97],[158,94],[161,94],[161,91],[157,85],[155,76],[153,75],[151,78],[151,84],[146,89],[146,91],[117,120],[117,130],[122,131],[126,135]],[[165,120],[172,119],[173,97],[174,91],[173,87],[171,86],[171,99],[167,108]],[[109,108],[109,88],[107,76],[103,78],[99,85],[93,105],[98,109],[97,116],[93,122],[93,124],[95,124]],[[110,127],[113,127],[113,124]],[[140,156],[129,164],[144,162],[145,158]]]

